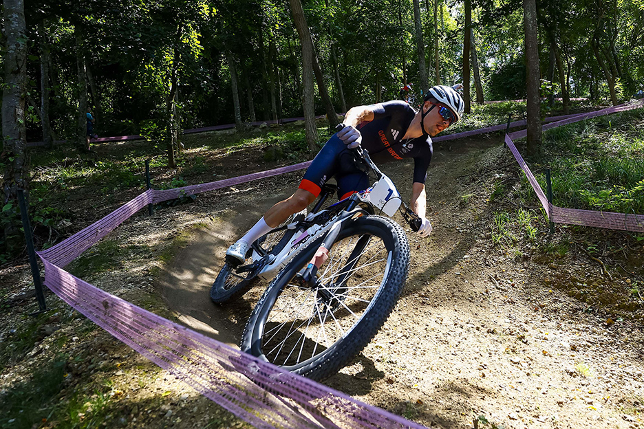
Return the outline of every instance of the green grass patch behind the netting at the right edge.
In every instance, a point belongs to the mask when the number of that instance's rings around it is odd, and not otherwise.
[[[643,128],[644,109],[634,109],[547,131],[553,203],[643,214]],[[545,185],[542,175],[537,176]]]

